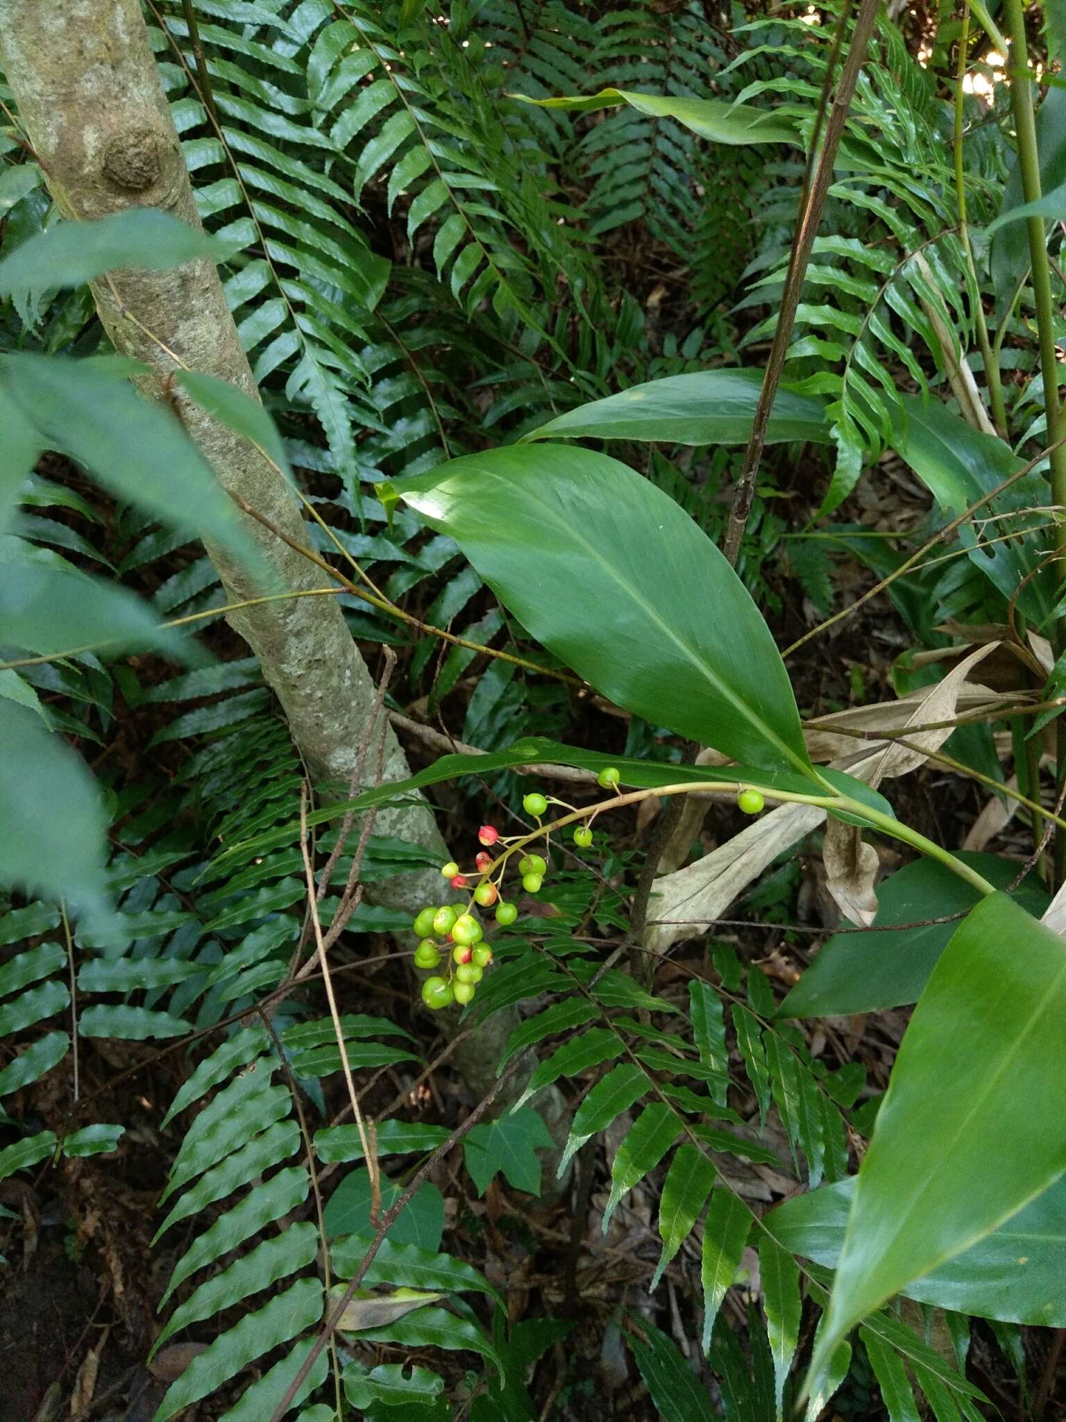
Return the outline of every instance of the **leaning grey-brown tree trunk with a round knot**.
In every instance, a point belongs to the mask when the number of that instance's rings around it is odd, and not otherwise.
[[[138,0],[0,0],[0,63],[65,216],[102,218],[145,206],[199,226]],[[92,287],[104,327],[115,348],[149,365],[159,383],[175,370],[173,351],[193,370],[257,395],[210,262],[171,272],[121,272],[109,283]],[[306,546],[301,512],[281,475],[183,392],[172,398],[223,488]],[[279,586],[323,584],[321,572],[307,559],[242,518],[276,569]],[[225,549],[209,543],[208,552],[232,602],[254,596],[246,572]],[[340,604],[331,597],[296,597],[233,613],[229,620],[259,657],[307,764],[317,775],[347,784],[371,715],[374,684]],[[387,728],[384,778],[408,774]],[[382,811],[378,830],[448,857],[425,803]],[[441,880],[432,872],[405,875],[372,889],[377,902],[421,907],[439,897]]]

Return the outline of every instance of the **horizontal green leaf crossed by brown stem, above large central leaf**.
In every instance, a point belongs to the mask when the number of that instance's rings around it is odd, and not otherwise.
[[[556,415],[522,437],[534,439],[640,439],[685,445],[746,444],[762,388],[760,370],[704,370],[632,385],[605,400]],[[766,427],[766,444],[803,439],[830,444],[822,400],[782,385]]]

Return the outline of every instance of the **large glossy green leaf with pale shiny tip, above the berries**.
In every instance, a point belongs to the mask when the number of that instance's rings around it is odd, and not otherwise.
[[[453,459],[395,492],[618,705],[736,761],[814,778],[785,664],[748,590],[702,529],[627,465],[520,445]]]

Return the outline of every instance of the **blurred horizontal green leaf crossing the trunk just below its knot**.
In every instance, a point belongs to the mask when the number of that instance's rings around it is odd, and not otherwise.
[[[105,272],[165,272],[196,257],[217,262],[226,247],[158,208],[126,208],[91,222],[57,222],[0,262],[0,296],[30,300],[41,292],[82,286]]]

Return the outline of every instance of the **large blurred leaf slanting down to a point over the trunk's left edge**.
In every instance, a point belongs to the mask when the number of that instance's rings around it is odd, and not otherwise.
[[[0,356],[0,388],[45,448],[84,464],[112,493],[168,528],[252,556],[215,471],[175,417],[125,378],[88,361],[20,353]]]

